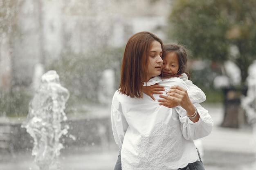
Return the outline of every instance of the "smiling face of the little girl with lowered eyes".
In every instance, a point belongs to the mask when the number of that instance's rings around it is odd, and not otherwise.
[[[171,75],[176,75],[179,71],[179,60],[176,53],[174,51],[166,53],[163,60],[162,77],[168,78]]]

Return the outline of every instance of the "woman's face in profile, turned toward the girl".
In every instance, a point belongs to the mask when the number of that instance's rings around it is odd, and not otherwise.
[[[162,55],[163,51],[160,42],[153,41],[148,56],[147,77],[146,80],[142,79],[142,81],[148,82],[152,77],[161,74]]]

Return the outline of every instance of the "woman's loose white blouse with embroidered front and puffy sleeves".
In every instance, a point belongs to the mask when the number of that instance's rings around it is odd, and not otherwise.
[[[182,79],[167,80],[189,91]],[[200,119],[193,123],[180,106],[167,108],[146,94],[141,99],[116,91],[111,121],[122,170],[177,170],[199,160],[193,140],[209,135],[213,121],[200,104],[195,106]]]

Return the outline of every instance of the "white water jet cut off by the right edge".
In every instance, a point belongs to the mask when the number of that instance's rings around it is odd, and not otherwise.
[[[241,106],[245,110],[247,115],[247,121],[252,125],[253,142],[256,146],[256,60],[248,69],[247,77],[247,95],[241,99]],[[254,149],[256,158],[256,147]],[[253,163],[253,167],[256,168],[256,160]]]

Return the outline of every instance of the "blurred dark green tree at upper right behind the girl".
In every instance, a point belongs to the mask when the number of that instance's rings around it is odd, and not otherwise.
[[[234,61],[244,85],[256,60],[255,7],[255,0],[173,0],[169,38],[188,46],[194,57]],[[231,46],[238,49],[236,56],[230,55]]]

